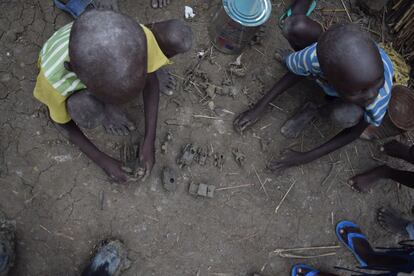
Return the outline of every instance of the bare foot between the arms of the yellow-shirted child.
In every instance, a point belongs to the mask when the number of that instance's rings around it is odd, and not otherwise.
[[[112,135],[125,136],[135,130],[134,124],[122,110],[115,105],[105,105],[105,119],[102,122],[105,131]]]

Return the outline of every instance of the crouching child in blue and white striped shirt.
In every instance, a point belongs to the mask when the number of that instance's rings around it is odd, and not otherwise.
[[[313,150],[272,161],[269,167],[273,170],[311,162],[378,127],[391,98],[393,66],[387,54],[356,25],[336,25],[323,32],[319,23],[305,15],[311,2],[296,0],[282,27],[296,51],[284,58],[289,72],[253,108],[240,114],[234,126],[238,131],[251,126],[273,99],[310,77],[330,101],[319,108],[306,105],[285,124],[282,133],[297,136],[318,113],[330,116],[344,130]]]

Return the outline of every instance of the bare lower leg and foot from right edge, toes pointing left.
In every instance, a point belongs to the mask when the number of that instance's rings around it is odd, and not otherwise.
[[[386,165],[354,176],[349,184],[359,192],[368,192],[380,179],[392,179],[408,188],[414,188],[414,172],[397,170]]]

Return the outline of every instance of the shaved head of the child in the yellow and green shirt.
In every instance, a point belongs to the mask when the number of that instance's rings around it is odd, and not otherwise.
[[[79,79],[104,102],[127,102],[145,85],[145,33],[137,22],[120,13],[83,13],[70,33],[69,57]]]

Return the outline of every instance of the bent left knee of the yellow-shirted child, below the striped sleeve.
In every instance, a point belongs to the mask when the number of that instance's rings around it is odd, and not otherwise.
[[[104,105],[89,92],[77,92],[66,101],[72,120],[80,127],[92,129],[104,119]]]

